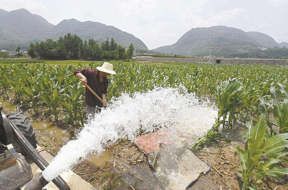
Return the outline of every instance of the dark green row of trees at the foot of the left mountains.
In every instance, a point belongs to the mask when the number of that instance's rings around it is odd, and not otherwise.
[[[132,58],[134,47],[131,43],[129,48],[125,50],[121,45],[117,45],[115,40],[107,40],[100,45],[91,38],[84,41],[76,34],[67,33],[64,37],[59,37],[57,41],[46,39],[30,43],[28,55],[47,60],[78,60],[78,59],[93,59],[93,60],[128,60]]]

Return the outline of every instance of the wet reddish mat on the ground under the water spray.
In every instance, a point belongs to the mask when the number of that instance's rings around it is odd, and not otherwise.
[[[169,139],[168,131],[165,129],[159,129],[153,133],[147,133],[140,135],[133,140],[133,142],[143,149],[146,153],[150,153],[159,150],[160,144],[172,145],[173,141]]]

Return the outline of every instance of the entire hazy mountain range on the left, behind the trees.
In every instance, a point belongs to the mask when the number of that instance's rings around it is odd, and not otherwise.
[[[92,21],[80,22],[76,19],[63,20],[55,26],[26,9],[10,12],[0,9],[1,49],[14,50],[17,46],[24,49],[29,46],[30,42],[44,41],[47,38],[57,40],[68,32],[78,35],[82,40],[93,38],[97,42],[103,42],[108,37],[114,38],[116,43],[124,47],[133,43],[139,49],[147,49],[140,39],[114,26]]]

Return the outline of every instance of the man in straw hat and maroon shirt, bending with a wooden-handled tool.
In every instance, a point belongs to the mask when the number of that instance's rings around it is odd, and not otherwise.
[[[107,105],[106,95],[108,89],[108,78],[110,74],[116,74],[113,71],[113,65],[104,62],[101,67],[96,67],[97,70],[75,70],[74,74],[78,78],[82,78],[82,85],[88,85],[102,100],[104,105]],[[101,111],[103,103],[99,101],[86,87],[85,88],[85,103],[88,115],[93,116],[97,112]]]

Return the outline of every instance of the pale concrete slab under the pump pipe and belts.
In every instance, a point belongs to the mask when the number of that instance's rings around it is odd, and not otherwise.
[[[14,152],[15,149],[13,146],[8,145],[8,149],[11,152]],[[37,145],[38,147],[38,145]],[[13,150],[14,149],[14,150]],[[53,160],[53,156],[49,154],[47,151],[43,150],[39,152],[39,154],[48,162],[50,163]],[[42,172],[40,168],[31,160],[31,158],[26,158],[26,162],[30,164],[32,168],[33,177]],[[95,187],[93,187],[90,183],[82,179],[80,176],[75,174],[72,170],[69,170],[67,172],[63,172],[60,174],[60,176],[66,181],[66,183],[70,186],[71,190],[97,190]],[[58,187],[54,185],[54,183],[51,181],[48,183],[43,189],[47,190],[58,190]]]

